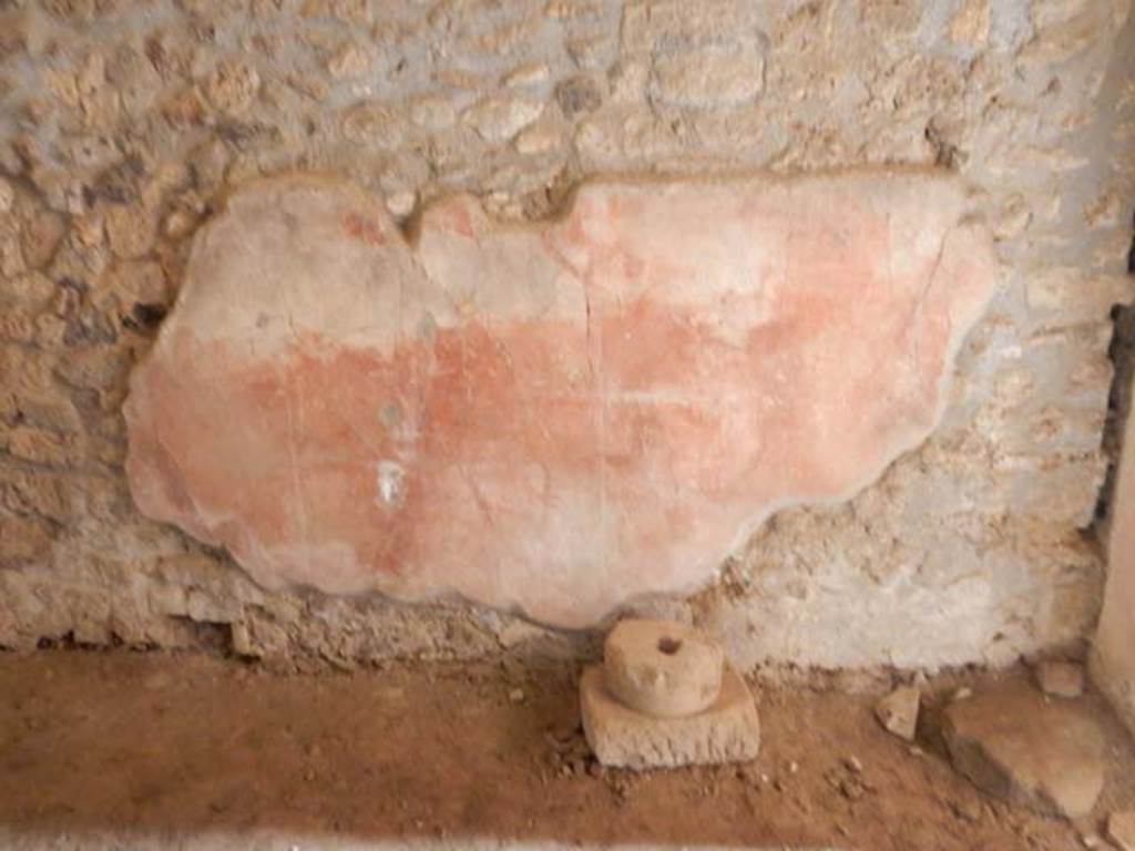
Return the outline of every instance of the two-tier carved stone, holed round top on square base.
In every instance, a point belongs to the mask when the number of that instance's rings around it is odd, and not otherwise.
[[[753,694],[707,638],[682,624],[630,622],[612,631],[604,656],[615,666],[592,666],[580,680],[583,732],[603,765],[675,768],[757,756]],[[712,698],[707,684],[716,686]],[[616,697],[628,689],[634,706]],[[690,706],[703,708],[675,711]]]

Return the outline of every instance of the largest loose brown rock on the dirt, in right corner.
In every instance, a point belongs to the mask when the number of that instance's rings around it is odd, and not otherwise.
[[[955,701],[943,714],[955,768],[1010,803],[1069,817],[1103,789],[1103,738],[1076,706],[1011,683]]]

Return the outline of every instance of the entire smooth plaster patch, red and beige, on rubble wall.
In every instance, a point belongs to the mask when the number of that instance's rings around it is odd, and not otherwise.
[[[266,585],[585,625],[924,440],[994,279],[941,175],[597,183],[529,225],[454,196],[410,237],[263,182],[132,378],[131,486]]]

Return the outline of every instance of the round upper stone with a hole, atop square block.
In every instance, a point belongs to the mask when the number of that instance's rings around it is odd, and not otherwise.
[[[603,650],[607,690],[656,718],[707,709],[721,693],[724,655],[696,630],[667,621],[620,621]]]

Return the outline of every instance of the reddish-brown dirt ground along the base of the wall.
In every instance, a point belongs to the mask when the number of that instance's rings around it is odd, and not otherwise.
[[[1108,786],[1071,825],[983,797],[932,731],[915,747],[885,733],[873,696],[800,684],[756,685],[753,764],[606,770],[579,728],[575,675],[0,655],[0,828],[1003,851],[1083,848],[1108,812],[1135,804],[1135,747],[1096,696],[1083,700],[1107,732]]]

